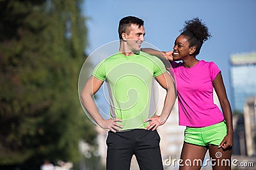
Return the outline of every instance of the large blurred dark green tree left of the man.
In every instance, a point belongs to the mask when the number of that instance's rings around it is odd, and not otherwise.
[[[95,131],[77,95],[83,1],[0,0],[0,165],[79,160]]]

